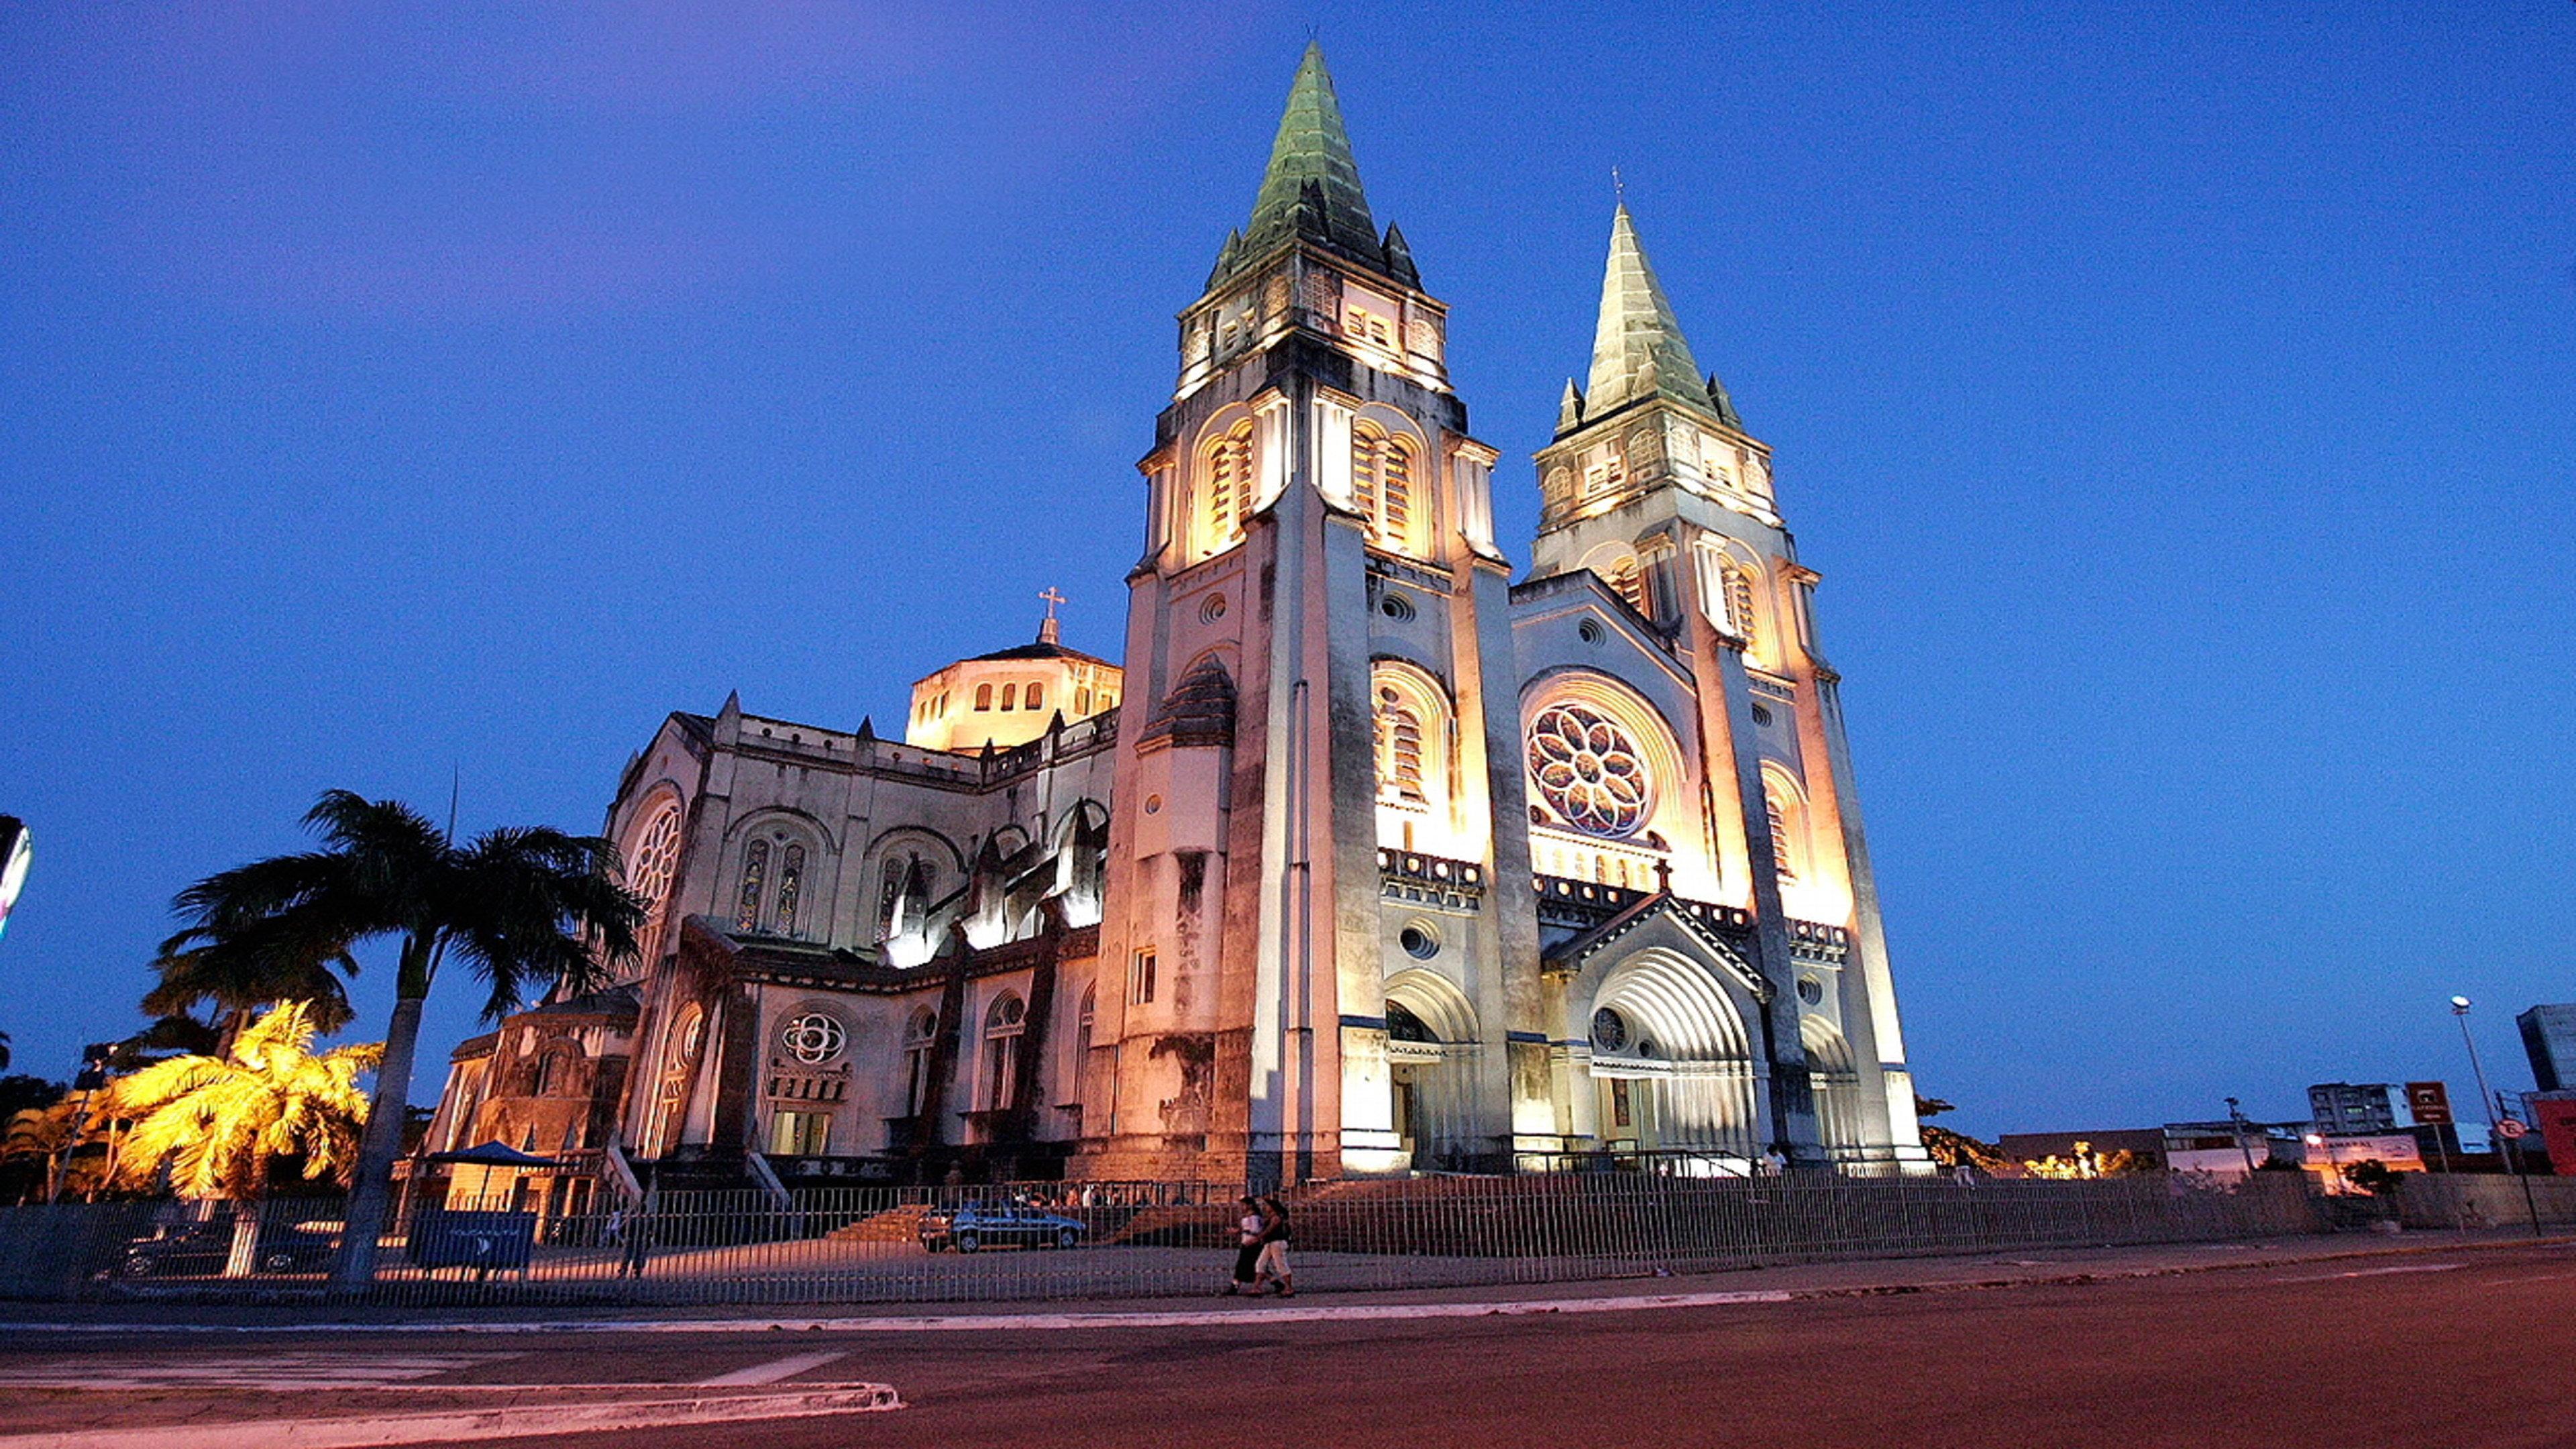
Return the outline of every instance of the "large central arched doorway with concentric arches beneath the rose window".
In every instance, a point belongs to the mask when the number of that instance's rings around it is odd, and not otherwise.
[[[1744,1016],[1705,964],[1638,951],[1602,975],[1582,1021],[1602,1147],[1721,1163],[1762,1152]]]

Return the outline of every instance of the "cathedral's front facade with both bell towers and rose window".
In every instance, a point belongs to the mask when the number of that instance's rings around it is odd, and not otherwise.
[[[1770,449],[1625,206],[1528,578],[1306,52],[1141,462],[1074,1173],[1927,1171]]]

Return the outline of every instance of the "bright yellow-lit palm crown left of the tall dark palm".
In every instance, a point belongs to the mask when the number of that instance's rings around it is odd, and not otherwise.
[[[222,1057],[170,1057],[108,1088],[106,1116],[129,1119],[116,1176],[144,1186],[170,1173],[183,1199],[263,1196],[268,1165],[301,1158],[304,1178],[358,1173],[366,1091],[358,1078],[384,1042],[314,1055],[314,1021],[289,1000],[232,1039]]]

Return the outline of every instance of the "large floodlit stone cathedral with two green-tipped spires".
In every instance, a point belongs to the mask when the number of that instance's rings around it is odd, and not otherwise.
[[[770,1191],[1929,1171],[1816,572],[1625,204],[1517,583],[1497,459],[1309,46],[1180,312],[1123,657],[1048,601],[899,732],[670,714],[605,830],[644,957],[464,1042],[430,1150]]]

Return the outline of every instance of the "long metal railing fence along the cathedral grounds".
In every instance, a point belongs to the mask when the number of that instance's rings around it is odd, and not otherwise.
[[[1203,1294],[1231,1266],[1218,1183],[659,1194],[541,1217],[407,1214],[376,1305],[762,1305]],[[1646,1276],[1762,1263],[2318,1232],[2287,1173],[2182,1178],[1435,1176],[1285,1194],[1298,1289]],[[2576,1199],[2571,1199],[2576,1209]],[[0,1209],[0,1297],[325,1299],[337,1199]]]

